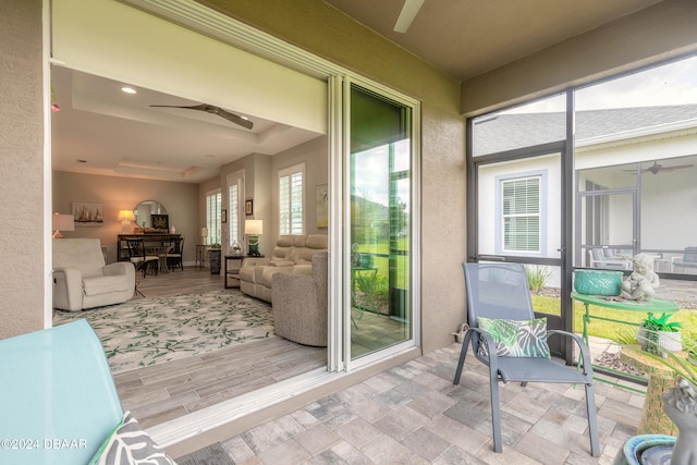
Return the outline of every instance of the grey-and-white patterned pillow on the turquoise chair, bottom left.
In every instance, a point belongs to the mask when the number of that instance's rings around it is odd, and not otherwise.
[[[87,465],[176,465],[126,412]]]

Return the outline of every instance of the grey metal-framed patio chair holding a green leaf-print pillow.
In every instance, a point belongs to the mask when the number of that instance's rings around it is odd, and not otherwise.
[[[598,456],[600,450],[592,366],[588,347],[583,339],[566,331],[547,331],[546,320],[535,320],[527,276],[523,265],[463,264],[463,268],[467,285],[469,329],[465,333],[453,384],[460,383],[467,356],[467,346],[472,344],[475,358],[489,367],[494,452],[502,450],[499,405],[500,379],[503,382],[521,382],[523,387],[528,382],[583,384],[586,388],[590,455]],[[489,330],[487,331],[482,327],[487,327]],[[508,332],[508,339],[500,338],[505,334],[504,331],[500,331],[502,328],[513,329]],[[578,367],[565,366],[550,357],[547,338],[557,334],[572,338],[576,342],[580,348]],[[525,338],[519,338],[521,335]]]

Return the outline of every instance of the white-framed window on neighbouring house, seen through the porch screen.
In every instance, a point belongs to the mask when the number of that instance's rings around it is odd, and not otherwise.
[[[503,250],[540,252],[540,178],[501,182]]]

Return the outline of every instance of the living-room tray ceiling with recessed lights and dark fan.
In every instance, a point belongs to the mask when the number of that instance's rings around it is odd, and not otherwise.
[[[276,155],[319,134],[252,114],[252,130],[203,111],[152,108],[201,102],[53,66],[52,169],[200,183],[249,154]],[[84,160],[84,161],[80,161]]]

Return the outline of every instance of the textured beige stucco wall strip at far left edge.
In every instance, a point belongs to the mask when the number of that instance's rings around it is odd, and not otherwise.
[[[44,328],[41,1],[0,2],[0,339]]]

